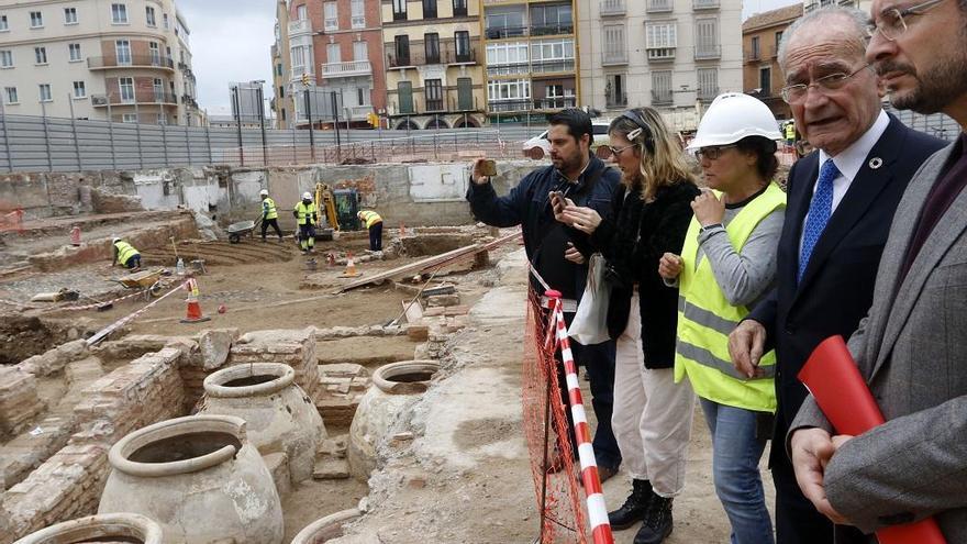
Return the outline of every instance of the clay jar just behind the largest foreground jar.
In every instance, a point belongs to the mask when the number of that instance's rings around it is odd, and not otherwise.
[[[204,379],[200,413],[237,415],[262,455],[281,452],[293,481],[312,476],[315,449],[326,437],[315,404],[294,384],[296,371],[279,363],[232,366]]]

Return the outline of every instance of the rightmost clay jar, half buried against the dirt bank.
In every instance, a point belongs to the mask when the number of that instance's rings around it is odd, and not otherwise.
[[[356,479],[369,479],[369,473],[376,468],[376,448],[390,424],[430,387],[430,379],[437,370],[440,364],[435,360],[403,360],[373,373],[373,387],[359,399],[349,425],[346,457],[349,473]]]

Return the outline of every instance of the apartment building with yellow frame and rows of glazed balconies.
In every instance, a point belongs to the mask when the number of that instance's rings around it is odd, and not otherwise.
[[[482,0],[490,122],[581,106],[575,2]]]

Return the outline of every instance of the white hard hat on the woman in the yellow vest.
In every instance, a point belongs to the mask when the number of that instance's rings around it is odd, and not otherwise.
[[[747,136],[782,140],[779,123],[768,106],[748,95],[726,92],[709,106],[688,149],[734,144]]]

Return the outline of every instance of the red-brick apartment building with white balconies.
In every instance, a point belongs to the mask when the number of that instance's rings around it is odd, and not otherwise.
[[[288,8],[288,86],[276,86],[276,98],[291,98],[287,119],[308,126],[310,116],[321,124],[338,115],[366,126],[369,113],[386,109],[379,0],[290,0]]]

